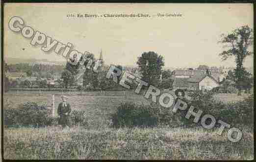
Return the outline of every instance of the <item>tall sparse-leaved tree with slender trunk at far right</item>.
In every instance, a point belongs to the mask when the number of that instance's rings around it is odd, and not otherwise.
[[[235,78],[237,83],[238,95],[241,95],[242,82],[244,77],[243,61],[247,56],[252,56],[253,52],[248,51],[248,47],[253,44],[253,29],[248,25],[235,29],[231,33],[222,34],[221,43],[224,48],[227,48],[219,54],[222,60],[225,61],[230,57],[235,57],[236,69]]]

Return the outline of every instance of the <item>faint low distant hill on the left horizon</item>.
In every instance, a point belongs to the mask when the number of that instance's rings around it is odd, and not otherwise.
[[[65,64],[65,61],[49,61],[47,59],[24,59],[24,58],[6,58],[4,60],[7,64],[15,64],[15,63],[41,63],[41,64],[55,64],[62,65]]]

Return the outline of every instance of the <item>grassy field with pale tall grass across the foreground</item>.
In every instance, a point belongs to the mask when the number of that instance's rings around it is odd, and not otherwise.
[[[229,96],[230,95],[230,96]],[[219,94],[225,101],[238,101],[233,94]],[[51,94],[5,94],[4,109],[17,108],[26,101],[45,102],[51,106]],[[60,102],[55,96],[55,106]],[[88,127],[7,128],[4,129],[5,159],[129,159],[129,160],[252,160],[253,133],[243,129],[237,143],[226,133],[203,128],[120,128],[110,127],[109,115],[121,102],[149,104],[142,95],[133,92],[108,92],[68,96],[73,110],[85,110]],[[7,107],[8,105],[8,107]]]

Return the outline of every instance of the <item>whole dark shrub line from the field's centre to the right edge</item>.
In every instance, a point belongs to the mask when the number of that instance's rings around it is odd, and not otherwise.
[[[248,126],[253,127],[254,96],[251,95],[243,101],[225,103],[214,99],[212,92],[202,93],[194,91],[189,94],[191,100],[188,107],[193,105],[194,111],[198,109],[203,111],[199,122],[193,122],[193,116],[186,119],[187,110],[178,110],[176,114],[172,113],[171,108],[164,108],[158,104],[137,105],[132,102],[121,103],[115,113],[111,114],[111,120],[114,127],[134,127],[134,126],[154,126],[171,125],[193,127],[201,125],[200,121],[205,114],[215,117],[216,121],[227,122],[232,127]],[[208,123],[207,123],[208,122]],[[209,124],[210,120],[206,120]],[[218,124],[217,124],[218,125]]]

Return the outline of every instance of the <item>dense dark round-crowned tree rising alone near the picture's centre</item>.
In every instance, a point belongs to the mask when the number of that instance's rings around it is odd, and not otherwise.
[[[148,82],[150,85],[157,86],[160,82],[162,67],[164,66],[163,57],[153,51],[144,52],[138,58],[137,64],[141,68],[142,80]]]

